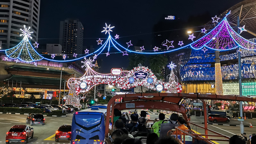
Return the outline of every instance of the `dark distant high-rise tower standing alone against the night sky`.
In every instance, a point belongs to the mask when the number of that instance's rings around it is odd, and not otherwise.
[[[75,19],[60,21],[60,44],[62,53],[72,55],[83,52],[84,27]]]

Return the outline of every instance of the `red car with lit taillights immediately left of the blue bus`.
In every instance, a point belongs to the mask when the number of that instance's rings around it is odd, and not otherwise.
[[[55,141],[59,140],[70,140],[71,139],[71,125],[64,124],[61,125],[55,133]]]

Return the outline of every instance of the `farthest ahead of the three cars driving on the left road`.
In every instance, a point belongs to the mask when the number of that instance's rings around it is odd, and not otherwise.
[[[26,119],[26,124],[33,125],[33,124],[42,124],[44,125],[44,115],[43,114],[30,114],[28,115],[27,119]]]

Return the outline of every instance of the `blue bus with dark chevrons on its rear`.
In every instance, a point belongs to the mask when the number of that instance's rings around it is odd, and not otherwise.
[[[71,144],[103,144],[107,105],[95,105],[73,114]]]

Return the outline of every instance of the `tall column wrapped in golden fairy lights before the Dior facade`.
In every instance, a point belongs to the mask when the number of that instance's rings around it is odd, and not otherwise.
[[[220,63],[215,63],[215,88],[216,88],[216,94],[223,95]]]

